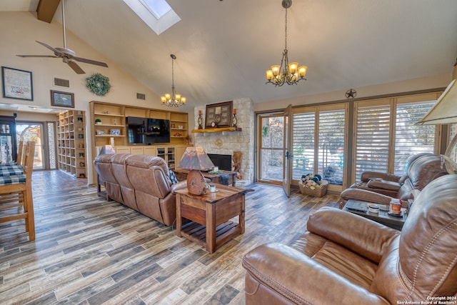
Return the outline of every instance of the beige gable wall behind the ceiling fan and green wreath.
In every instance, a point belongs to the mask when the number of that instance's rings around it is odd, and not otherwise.
[[[92,49],[91,46],[81,41],[81,39],[68,30],[66,31],[67,48],[76,51],[76,56],[104,61],[108,64],[109,68],[91,64],[80,64],[81,68],[86,71],[86,74],[76,74],[61,59],[21,58],[16,56],[16,54],[51,55],[51,51],[37,44],[36,41],[41,41],[54,47],[63,46],[62,26],[59,23],[53,21],[51,24],[48,24],[44,21],[39,21],[36,19],[35,12],[0,11],[0,29],[0,66],[31,71],[34,93],[33,101],[6,99],[3,97],[2,89],[0,95],[1,104],[25,105],[22,108],[28,106],[51,107],[50,90],[56,90],[74,93],[75,109],[86,111],[86,122],[89,121],[89,101],[94,100],[170,110],[169,107],[161,105],[159,95],[149,90],[144,84],[136,81],[126,71],[116,66],[109,59],[106,59],[103,54]],[[86,89],[86,77],[97,72],[109,77],[111,91],[106,96],[96,96]],[[68,79],[70,81],[70,88],[54,86],[54,77]],[[146,94],[146,100],[136,99],[136,93]],[[188,108],[193,115],[194,109],[190,106]],[[62,108],[61,110],[68,109]],[[185,107],[177,110],[188,111]],[[8,111],[6,114],[11,115],[13,112],[18,112],[18,119],[21,120],[39,120],[39,116],[34,116],[34,114],[20,114],[19,111],[14,110]],[[33,119],[34,117],[35,119]],[[194,126],[190,126],[190,128],[194,128]],[[86,141],[87,146],[89,146],[91,143],[90,134]],[[90,154],[90,150],[88,153]],[[89,183],[91,183],[91,175],[88,178]]]

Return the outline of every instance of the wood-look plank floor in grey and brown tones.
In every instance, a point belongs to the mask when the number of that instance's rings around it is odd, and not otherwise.
[[[290,243],[309,214],[341,200],[252,184],[246,233],[209,254],[175,228],[101,199],[86,179],[36,171],[33,185],[36,240],[24,221],[0,224],[0,304],[244,304],[243,255]]]

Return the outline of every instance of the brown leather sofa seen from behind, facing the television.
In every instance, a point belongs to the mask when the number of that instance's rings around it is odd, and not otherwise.
[[[109,199],[167,226],[174,224],[174,190],[187,184],[186,181],[171,184],[164,159],[140,154],[102,154],[96,156],[94,166]]]

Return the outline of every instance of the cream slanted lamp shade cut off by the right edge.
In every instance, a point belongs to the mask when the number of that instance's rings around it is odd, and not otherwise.
[[[417,124],[450,124],[457,123],[457,84],[456,79],[451,81],[446,90],[441,94],[428,114],[424,116]]]

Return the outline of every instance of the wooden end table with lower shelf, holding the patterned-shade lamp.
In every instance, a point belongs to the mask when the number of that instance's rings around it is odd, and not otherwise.
[[[214,253],[218,246],[244,233],[245,194],[252,189],[216,184],[216,193],[176,194],[176,235],[186,237]],[[238,216],[238,223],[231,221]],[[183,225],[183,219],[191,222]]]

